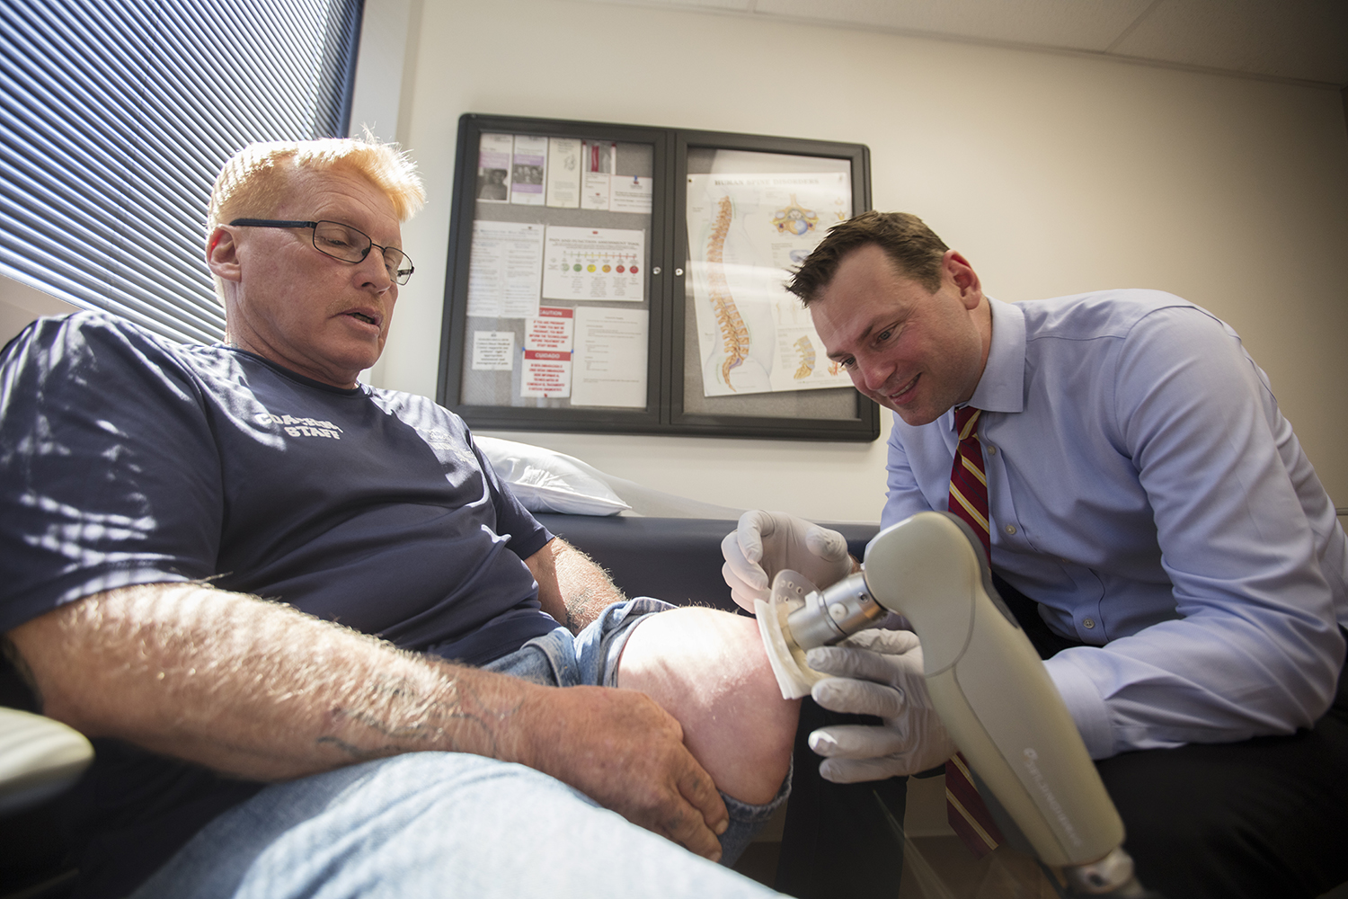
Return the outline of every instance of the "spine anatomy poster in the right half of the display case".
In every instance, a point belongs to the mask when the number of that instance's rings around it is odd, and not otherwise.
[[[690,283],[706,396],[851,387],[785,282],[852,216],[847,173],[687,177]]]

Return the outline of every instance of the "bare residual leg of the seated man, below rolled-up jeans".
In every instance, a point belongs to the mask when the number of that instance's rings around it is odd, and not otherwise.
[[[683,743],[725,794],[762,805],[786,779],[799,713],[783,700],[754,619],[679,608],[640,623],[617,686],[646,693],[683,726]]]

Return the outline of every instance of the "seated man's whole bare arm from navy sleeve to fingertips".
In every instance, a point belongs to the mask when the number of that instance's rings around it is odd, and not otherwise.
[[[465,669],[200,584],[109,590],[8,638],[43,713],[88,736],[253,780],[402,752],[473,752],[550,774],[720,856],[729,815],[716,784],[678,721],[635,690]]]

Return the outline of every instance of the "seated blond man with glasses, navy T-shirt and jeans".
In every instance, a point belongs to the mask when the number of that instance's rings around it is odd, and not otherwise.
[[[787,790],[752,621],[625,600],[461,419],[357,381],[421,204],[388,146],[247,147],[224,344],[78,313],[0,357],[0,631],[96,745],[77,895],[760,890],[698,859]]]

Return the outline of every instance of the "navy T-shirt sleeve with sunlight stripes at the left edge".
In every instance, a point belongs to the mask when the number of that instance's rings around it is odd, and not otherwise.
[[[93,314],[0,357],[0,631],[133,584],[213,573],[220,460],[171,352]]]

